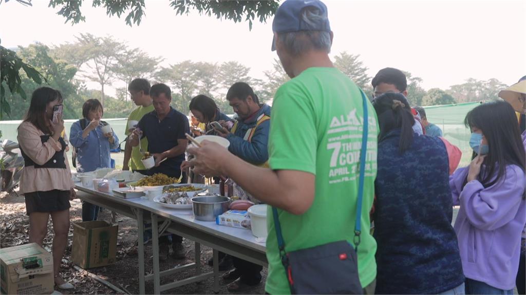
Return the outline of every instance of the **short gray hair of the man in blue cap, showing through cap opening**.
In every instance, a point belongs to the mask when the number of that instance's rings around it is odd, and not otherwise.
[[[318,8],[307,7],[301,13],[301,20],[310,26],[327,21],[327,13],[322,13]],[[325,50],[330,53],[331,40],[328,31],[304,30],[288,33],[279,33],[278,38],[285,45],[286,50],[292,55],[302,55],[312,49]]]

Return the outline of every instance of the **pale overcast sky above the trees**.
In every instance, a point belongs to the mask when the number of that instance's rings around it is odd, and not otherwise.
[[[267,24],[235,24],[214,17],[176,16],[168,1],[146,0],[140,26],[124,17],[107,17],[104,8],[84,1],[86,22],[64,24],[48,8],[14,0],[0,5],[2,46],[27,46],[39,41],[59,45],[80,33],[111,35],[164,65],[183,60],[237,60],[262,78],[277,58],[270,51],[272,20]],[[325,1],[334,32],[332,54],[359,54],[369,76],[396,67],[423,79],[426,89],[447,89],[468,78],[497,78],[508,85],[526,75],[526,1]]]

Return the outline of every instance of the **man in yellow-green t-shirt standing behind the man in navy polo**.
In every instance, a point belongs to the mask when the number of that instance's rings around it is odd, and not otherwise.
[[[137,106],[137,109],[133,110],[129,117],[128,122],[126,123],[126,136],[128,136],[131,131],[135,128],[134,125],[140,121],[143,116],[154,110],[154,106],[151,103],[150,97],[150,82],[146,79],[137,78],[130,82],[128,85],[128,91],[131,94],[131,100],[133,100]],[[134,122],[135,121],[135,122]],[[148,150],[148,140],[146,136],[140,140],[141,148],[143,151]],[[124,163],[123,170],[137,171],[139,173],[145,174],[146,167],[143,165],[142,159],[143,155],[139,152],[139,146],[131,146],[126,141],[124,148]]]

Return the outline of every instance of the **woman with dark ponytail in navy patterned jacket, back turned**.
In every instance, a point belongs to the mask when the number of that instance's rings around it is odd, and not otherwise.
[[[401,93],[385,93],[378,114],[378,174],[374,236],[376,294],[463,294],[446,146],[413,133]]]

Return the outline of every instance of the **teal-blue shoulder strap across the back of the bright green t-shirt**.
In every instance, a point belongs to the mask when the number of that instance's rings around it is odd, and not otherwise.
[[[367,155],[367,136],[369,135],[369,112],[367,108],[367,97],[365,93],[360,89],[360,93],[363,100],[363,133],[362,133],[362,144],[360,152],[360,177],[358,180],[358,200],[356,204],[356,224],[355,224],[355,236],[353,242],[355,243],[355,251],[358,252],[358,245],[360,245],[360,234],[361,234],[361,210],[362,210],[362,199],[363,199],[363,183],[365,182],[365,160]],[[286,265],[287,256],[285,252],[285,240],[281,233],[281,224],[279,223],[278,210],[276,207],[272,207],[272,217],[274,217],[274,228],[276,230],[276,236],[278,238],[278,248],[281,257],[281,262]]]

